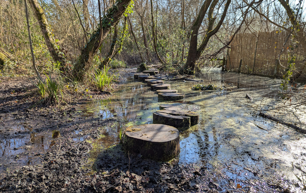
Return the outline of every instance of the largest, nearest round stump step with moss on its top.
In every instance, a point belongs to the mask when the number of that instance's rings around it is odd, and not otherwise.
[[[123,147],[130,154],[140,154],[143,158],[169,161],[180,152],[179,131],[162,124],[130,126],[125,130]]]

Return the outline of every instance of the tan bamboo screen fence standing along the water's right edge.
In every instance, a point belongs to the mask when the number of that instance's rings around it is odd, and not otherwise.
[[[287,31],[237,34],[230,44],[226,68],[229,71],[238,72],[242,59],[241,73],[282,77],[286,72],[290,55],[294,55],[296,56],[294,73],[303,70],[299,79],[306,80],[305,27],[302,26],[294,36],[290,35],[288,38],[288,35]],[[284,51],[280,55],[280,64],[277,64],[275,74],[276,60],[283,46]]]

